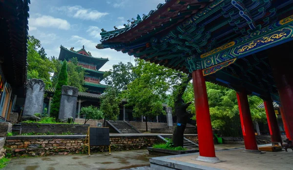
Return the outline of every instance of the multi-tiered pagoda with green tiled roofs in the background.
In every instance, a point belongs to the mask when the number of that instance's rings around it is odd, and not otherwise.
[[[86,92],[78,92],[76,117],[80,118],[80,110],[82,107],[90,105],[100,107],[101,94],[107,86],[101,84],[105,72],[99,71],[99,69],[101,69],[101,67],[108,61],[108,58],[93,57],[90,52],[87,52],[84,49],[84,46],[78,51],[75,51],[74,47],[71,47],[70,50],[68,50],[62,45],[60,46],[59,60],[70,62],[70,59],[73,57],[77,58],[78,65],[83,67],[86,73],[84,76],[84,87],[86,88]],[[48,114],[50,114],[50,103],[54,92],[55,88],[47,88],[45,90],[47,95],[44,98],[43,108],[47,108]]]

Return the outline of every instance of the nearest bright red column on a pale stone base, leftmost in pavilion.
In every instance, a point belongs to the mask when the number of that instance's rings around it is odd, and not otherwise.
[[[196,110],[199,156],[197,160],[219,162],[213,143],[213,133],[209,115],[209,102],[205,78],[202,70],[192,72],[194,104]]]

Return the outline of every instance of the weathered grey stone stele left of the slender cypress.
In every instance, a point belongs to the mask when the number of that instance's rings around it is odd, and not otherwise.
[[[42,113],[45,83],[41,79],[32,78],[27,83],[23,116]]]

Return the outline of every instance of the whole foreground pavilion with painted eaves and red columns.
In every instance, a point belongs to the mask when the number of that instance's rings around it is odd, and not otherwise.
[[[271,147],[283,142],[273,101],[280,106],[287,137],[293,139],[293,0],[165,2],[125,28],[102,29],[96,48],[114,49],[192,75],[199,141],[196,160],[220,161],[214,150],[205,81],[236,91],[246,151],[259,152],[248,95],[264,100]]]

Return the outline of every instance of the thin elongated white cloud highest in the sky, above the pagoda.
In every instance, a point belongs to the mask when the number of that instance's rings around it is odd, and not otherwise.
[[[76,19],[84,19],[84,20],[97,20],[108,15],[108,13],[106,12],[99,12],[97,10],[85,9],[79,5],[53,7],[52,10],[65,13],[68,17],[73,17]]]

